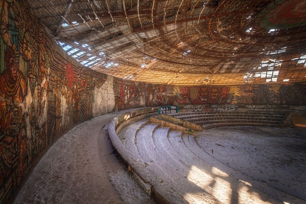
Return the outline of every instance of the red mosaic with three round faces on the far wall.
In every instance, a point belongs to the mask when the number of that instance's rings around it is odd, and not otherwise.
[[[176,93],[178,104],[230,104],[234,99],[228,86],[180,86],[179,90],[180,93]]]

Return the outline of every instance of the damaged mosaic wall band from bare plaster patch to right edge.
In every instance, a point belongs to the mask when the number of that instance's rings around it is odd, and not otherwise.
[[[115,107],[161,105],[306,105],[306,84],[174,86],[114,78]]]

